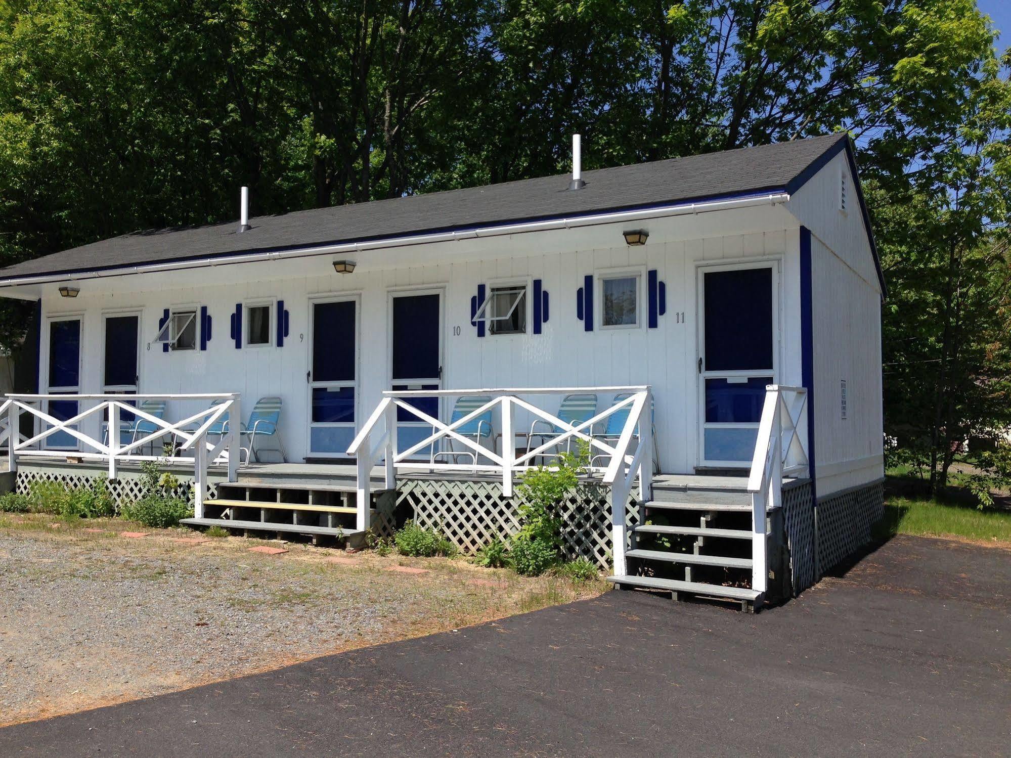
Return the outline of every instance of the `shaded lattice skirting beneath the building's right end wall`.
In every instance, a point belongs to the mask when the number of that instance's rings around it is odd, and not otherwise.
[[[815,518],[820,573],[870,542],[870,530],[884,512],[884,482],[819,499]]]

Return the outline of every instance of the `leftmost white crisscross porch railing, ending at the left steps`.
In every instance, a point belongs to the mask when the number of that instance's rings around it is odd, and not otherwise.
[[[172,456],[173,463],[193,464],[193,492],[196,516],[203,514],[203,499],[207,485],[207,464],[214,462],[226,465],[228,481],[238,479],[239,463],[242,458],[240,435],[242,424],[238,421],[227,424],[227,432],[220,439],[212,442],[207,439],[208,430],[219,423],[227,413],[233,419],[242,417],[242,400],[239,393],[225,394],[10,394],[0,403],[0,418],[5,420],[0,439],[7,447],[8,471],[17,471],[19,457],[30,455],[43,458],[82,458],[108,462],[109,478],[115,479],[120,463],[137,461],[165,460],[162,455],[143,455],[141,451],[148,445],[161,441],[172,440],[181,443],[177,448],[180,452],[192,451],[191,455]],[[203,407],[178,421],[168,421],[131,405],[144,400],[166,400],[176,402],[195,401],[209,407]],[[50,402],[76,402],[78,412],[70,418],[60,419],[50,413]],[[211,404],[212,403],[212,404]],[[82,409],[82,406],[88,406]],[[20,433],[11,434],[12,430],[20,429],[21,413],[29,413],[34,417],[35,434],[25,438]],[[122,442],[120,424],[121,413],[132,414],[136,421],[145,421],[143,431],[137,431],[129,442]],[[108,414],[108,433],[103,440],[98,440],[82,431],[83,427],[103,429]],[[90,421],[90,423],[89,423]],[[134,421],[134,423],[136,423]],[[154,431],[150,431],[154,428]],[[135,428],[134,428],[135,429]],[[78,443],[77,449],[48,449],[44,441],[54,435],[70,436]],[[101,435],[101,431],[99,435]]]

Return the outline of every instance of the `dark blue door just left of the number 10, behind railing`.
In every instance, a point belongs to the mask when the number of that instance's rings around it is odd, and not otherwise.
[[[391,388],[440,389],[442,386],[442,295],[439,292],[394,294],[391,297]],[[439,417],[439,397],[411,397],[419,410]],[[397,452],[407,450],[432,434],[431,424],[402,408],[397,409]],[[428,460],[430,449],[417,458]]]

